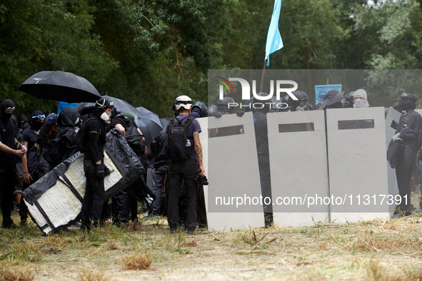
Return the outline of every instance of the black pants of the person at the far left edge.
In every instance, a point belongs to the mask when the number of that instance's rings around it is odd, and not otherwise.
[[[3,225],[5,226],[13,223],[11,220],[11,208],[14,200],[15,175],[16,164],[0,165],[1,215],[3,215]]]

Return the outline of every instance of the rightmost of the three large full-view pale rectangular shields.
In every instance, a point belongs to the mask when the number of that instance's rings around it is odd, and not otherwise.
[[[326,110],[331,221],[388,218],[384,108]]]

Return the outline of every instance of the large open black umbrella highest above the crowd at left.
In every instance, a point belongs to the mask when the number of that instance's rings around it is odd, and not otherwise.
[[[18,89],[36,98],[67,103],[97,101],[101,95],[85,78],[64,71],[41,71],[29,77]]]

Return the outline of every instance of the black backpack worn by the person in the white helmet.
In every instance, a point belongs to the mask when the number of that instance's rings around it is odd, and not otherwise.
[[[167,155],[174,161],[186,160],[191,157],[194,141],[189,139],[191,145],[186,146],[188,135],[186,127],[194,121],[193,117],[173,118],[170,121],[169,137],[167,138]]]

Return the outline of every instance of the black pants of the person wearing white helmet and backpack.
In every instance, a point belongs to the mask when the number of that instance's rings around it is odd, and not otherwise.
[[[169,172],[169,206],[167,208],[167,220],[169,226],[174,228],[179,221],[179,193],[181,182],[184,180],[186,189],[186,199],[188,203],[186,226],[196,228],[196,192],[197,184],[195,175],[198,172],[198,162],[189,158],[188,160],[170,163]]]

